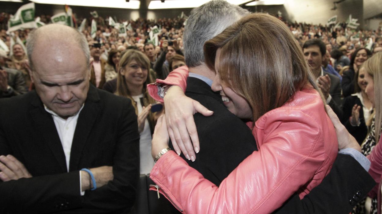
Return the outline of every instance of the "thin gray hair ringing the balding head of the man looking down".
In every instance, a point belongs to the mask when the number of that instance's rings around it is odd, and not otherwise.
[[[28,38],[26,39],[29,66],[31,67],[32,71],[34,70],[32,52],[34,46],[36,45],[36,41],[41,37],[41,34],[48,34],[45,38],[49,39],[63,39],[70,42],[77,42],[85,54],[86,66],[89,68],[90,50],[85,36],[74,28],[65,25],[50,24],[34,29],[31,31],[31,33],[28,34]]]

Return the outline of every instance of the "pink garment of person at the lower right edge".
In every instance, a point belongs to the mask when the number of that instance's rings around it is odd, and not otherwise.
[[[382,175],[382,138],[379,139],[379,142],[372,150],[371,154],[367,156],[367,159],[370,160],[371,165],[369,169],[369,174],[374,178],[377,184],[380,183]],[[375,197],[379,193],[379,185],[376,185],[369,193],[369,196]]]

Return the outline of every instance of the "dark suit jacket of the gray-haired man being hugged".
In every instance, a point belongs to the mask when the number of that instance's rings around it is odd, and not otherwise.
[[[224,106],[221,96],[198,78],[188,77],[186,95],[214,111],[210,117],[197,113],[194,121],[200,152],[187,163],[219,186],[239,163],[257,150],[251,130]],[[215,133],[216,132],[216,133]],[[172,144],[170,147],[173,149]],[[241,151],[240,151],[241,150]],[[291,196],[276,213],[349,213],[375,186],[372,177],[350,155],[338,154],[322,183],[300,200]],[[351,201],[350,201],[351,200]]]

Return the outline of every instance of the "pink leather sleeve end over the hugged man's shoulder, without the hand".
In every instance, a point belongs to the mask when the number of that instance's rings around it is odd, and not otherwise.
[[[186,91],[187,77],[188,67],[182,66],[170,72],[165,80],[157,79],[157,82],[147,85],[147,90],[154,100],[163,103],[163,86],[177,85],[181,87],[183,91]]]

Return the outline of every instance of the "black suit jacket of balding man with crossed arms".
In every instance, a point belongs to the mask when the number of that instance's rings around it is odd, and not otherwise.
[[[0,213],[126,213],[139,178],[139,133],[131,101],[90,86],[71,147],[69,173],[52,119],[36,91],[0,100],[0,155],[33,178],[0,182]],[[80,195],[79,170],[112,166],[114,179]]]

